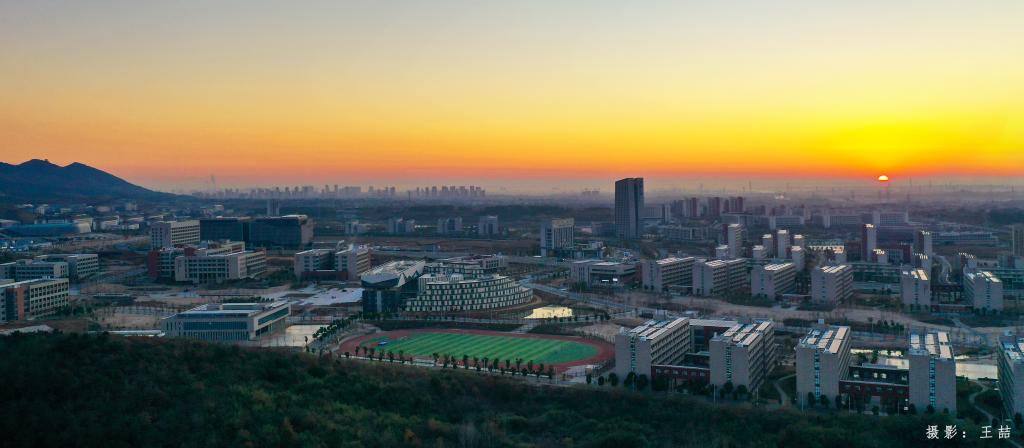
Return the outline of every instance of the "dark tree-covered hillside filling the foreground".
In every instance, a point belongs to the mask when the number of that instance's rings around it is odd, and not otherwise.
[[[942,446],[926,443],[927,418],[948,418],[764,411],[111,335],[2,337],[0,360],[5,447]],[[950,446],[997,446],[981,442]]]

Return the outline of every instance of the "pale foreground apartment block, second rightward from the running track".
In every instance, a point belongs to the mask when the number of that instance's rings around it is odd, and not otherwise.
[[[754,394],[775,367],[775,325],[771,320],[738,324],[710,343],[711,384],[744,387]]]

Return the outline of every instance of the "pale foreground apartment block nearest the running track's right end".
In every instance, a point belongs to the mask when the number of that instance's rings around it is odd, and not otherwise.
[[[630,372],[651,377],[652,366],[677,364],[691,348],[688,318],[647,321],[615,334],[615,374],[620,378]]]

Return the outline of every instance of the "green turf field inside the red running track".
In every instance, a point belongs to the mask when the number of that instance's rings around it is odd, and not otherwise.
[[[385,345],[379,346],[380,343]],[[394,338],[381,335],[366,341],[362,346],[385,349],[393,353],[418,358],[430,358],[434,353],[461,358],[487,357],[490,359],[522,359],[535,363],[559,364],[579,361],[598,354],[599,349],[590,344],[554,339],[527,339],[505,335],[414,332]]]

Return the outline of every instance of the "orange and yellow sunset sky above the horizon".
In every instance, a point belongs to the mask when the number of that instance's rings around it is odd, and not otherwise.
[[[1024,1],[2,1],[0,149],[158,188],[1021,176]]]

